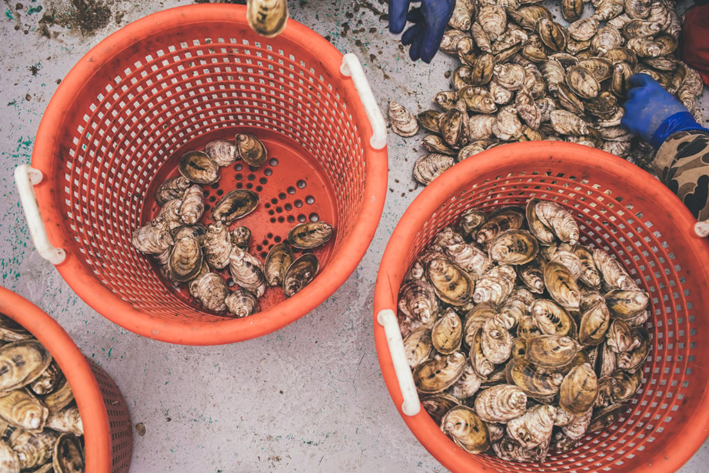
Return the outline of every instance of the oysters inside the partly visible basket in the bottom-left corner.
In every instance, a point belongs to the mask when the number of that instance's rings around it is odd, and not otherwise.
[[[52,355],[0,313],[0,472],[84,471],[84,427]]]

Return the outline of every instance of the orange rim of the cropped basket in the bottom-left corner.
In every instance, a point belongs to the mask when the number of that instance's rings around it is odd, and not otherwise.
[[[72,387],[84,425],[86,471],[110,472],[113,452],[108,412],[94,372],[79,347],[48,313],[2,286],[0,312],[23,325],[49,350]]]

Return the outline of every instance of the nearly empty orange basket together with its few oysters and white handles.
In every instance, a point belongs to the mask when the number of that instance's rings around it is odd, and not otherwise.
[[[296,321],[350,277],[384,208],[386,122],[357,57],[297,21],[264,38],[246,13],[180,6],[103,40],[16,168],[40,255],[149,338]]]

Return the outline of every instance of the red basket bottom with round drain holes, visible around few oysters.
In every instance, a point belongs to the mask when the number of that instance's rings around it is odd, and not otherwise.
[[[213,222],[211,209],[224,194],[234,189],[248,189],[258,194],[259,204],[254,212],[238,219],[229,228],[233,230],[238,226],[246,226],[251,230],[248,250],[262,262],[269,249],[274,244],[286,240],[289,230],[298,223],[325,221],[337,231],[334,191],[323,170],[314,164],[317,161],[293,140],[271,130],[252,127],[223,128],[206,133],[174,152],[147,191],[145,199],[149,204],[143,210],[141,221],[150,221],[160,212],[160,206],[155,203],[155,189],[166,179],[179,174],[177,164],[185,152],[203,150],[211,140],[233,141],[237,133],[251,133],[259,138],[268,151],[269,159],[260,167],[251,167],[242,160],[230,166],[220,167],[218,182],[202,186],[206,206],[200,223],[208,226]],[[296,257],[301,255],[302,250],[293,250]],[[320,267],[327,264],[331,251],[332,245],[328,244],[313,250]],[[157,262],[150,259],[155,272],[160,274]],[[233,287],[234,282],[228,277],[228,269],[219,272],[227,286]],[[189,294],[187,284],[174,286],[167,279],[160,279],[179,299],[199,311],[207,312],[199,301]],[[269,287],[266,294],[259,298],[259,308],[264,310],[276,306],[284,299],[282,288]]]

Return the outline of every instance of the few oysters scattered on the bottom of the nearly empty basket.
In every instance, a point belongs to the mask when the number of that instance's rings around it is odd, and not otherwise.
[[[220,167],[237,160],[259,167],[267,159],[263,143],[248,133],[186,152],[179,161],[179,175],[155,191],[155,201],[161,206],[157,217],[133,232],[133,246],[155,257],[162,275],[178,287],[186,284],[208,311],[250,316],[259,311],[258,299],[268,286],[281,286],[286,297],[293,296],[318,272],[318,258],[311,250],[333,235],[329,223],[299,223],[260,261],[249,252],[250,228],[233,226],[259,204],[258,194],[248,189],[224,194],[211,209],[211,221],[200,223],[206,218],[201,186],[217,182]],[[295,252],[301,255],[296,257]]]

